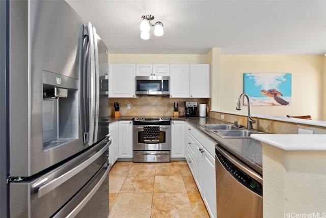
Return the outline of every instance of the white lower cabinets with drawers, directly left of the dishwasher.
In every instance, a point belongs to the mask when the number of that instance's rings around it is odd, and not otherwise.
[[[186,161],[210,217],[216,217],[215,142],[185,123]]]

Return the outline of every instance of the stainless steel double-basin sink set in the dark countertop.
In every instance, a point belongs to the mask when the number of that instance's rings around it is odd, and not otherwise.
[[[221,138],[250,138],[251,134],[263,133],[253,129],[244,129],[231,124],[205,124],[203,126],[213,131]]]

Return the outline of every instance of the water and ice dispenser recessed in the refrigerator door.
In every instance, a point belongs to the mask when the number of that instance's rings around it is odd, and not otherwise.
[[[43,150],[78,138],[78,80],[43,71]]]

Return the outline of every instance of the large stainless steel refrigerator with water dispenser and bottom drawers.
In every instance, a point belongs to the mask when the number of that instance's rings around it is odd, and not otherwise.
[[[107,48],[65,1],[8,9],[9,215],[107,217]]]

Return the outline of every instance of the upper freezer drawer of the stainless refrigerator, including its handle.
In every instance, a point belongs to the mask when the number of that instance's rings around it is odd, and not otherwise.
[[[11,182],[10,216],[50,217],[87,184],[94,186],[94,181],[99,181],[99,172],[108,167],[110,143],[105,139],[45,175]]]

